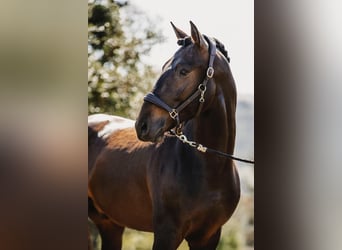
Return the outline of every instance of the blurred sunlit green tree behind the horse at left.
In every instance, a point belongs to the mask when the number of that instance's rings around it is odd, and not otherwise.
[[[134,118],[156,73],[142,62],[163,37],[125,1],[88,0],[88,113]]]

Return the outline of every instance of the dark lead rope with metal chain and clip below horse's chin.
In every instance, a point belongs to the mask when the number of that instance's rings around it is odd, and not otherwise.
[[[191,146],[193,148],[196,148],[198,151],[200,151],[202,153],[207,153],[207,152],[215,153],[217,155],[225,156],[227,158],[230,158],[230,159],[233,159],[233,160],[236,160],[236,161],[241,161],[241,162],[245,162],[245,163],[249,163],[249,164],[254,164],[255,163],[254,161],[251,161],[251,160],[242,159],[242,158],[236,157],[234,155],[221,152],[219,150],[215,150],[215,149],[212,149],[212,148],[205,147],[202,144],[197,143],[195,141],[190,141],[190,140],[188,140],[188,138],[180,130],[178,130],[176,132],[171,130],[170,133],[175,135],[181,142],[183,142],[185,144],[188,144],[189,146]]]

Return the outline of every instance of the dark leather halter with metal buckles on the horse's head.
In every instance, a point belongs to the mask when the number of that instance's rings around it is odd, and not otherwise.
[[[209,53],[210,53],[209,64],[208,64],[208,68],[207,68],[207,72],[206,72],[206,76],[204,77],[204,80],[202,81],[201,84],[198,85],[197,90],[191,96],[189,96],[187,99],[185,99],[176,108],[171,108],[169,105],[167,105],[163,100],[161,100],[159,97],[157,97],[152,92],[148,93],[144,97],[144,101],[155,104],[158,107],[165,109],[167,112],[169,112],[170,117],[173,120],[177,121],[177,127],[180,126],[179,112],[181,112],[185,107],[187,107],[198,96],[200,96],[200,98],[199,98],[200,105],[198,107],[196,116],[201,112],[201,110],[203,108],[203,103],[205,101],[204,94],[205,94],[205,91],[207,90],[207,83],[214,76],[213,65],[214,65],[214,59],[216,56],[216,44],[211,39],[209,39],[208,37],[204,36],[204,38],[206,39],[206,41],[209,44]],[[184,40],[184,39],[180,39],[180,40]]]

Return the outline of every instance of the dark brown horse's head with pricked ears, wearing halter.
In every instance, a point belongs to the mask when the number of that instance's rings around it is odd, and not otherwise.
[[[171,25],[181,47],[164,64],[152,92],[144,98],[135,124],[143,141],[159,142],[166,131],[205,111],[215,95],[215,43],[191,21],[191,36]]]

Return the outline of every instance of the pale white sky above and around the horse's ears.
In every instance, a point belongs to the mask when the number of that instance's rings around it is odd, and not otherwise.
[[[147,62],[160,70],[178,49],[170,25],[190,34],[191,20],[199,31],[226,47],[238,94],[254,94],[254,1],[252,0],[131,0],[152,20],[158,20],[166,41],[154,46]]]

